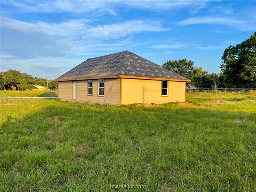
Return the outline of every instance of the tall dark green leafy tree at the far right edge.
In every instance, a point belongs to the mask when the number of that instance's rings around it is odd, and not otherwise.
[[[256,87],[256,32],[244,42],[226,48],[220,68],[226,86]]]

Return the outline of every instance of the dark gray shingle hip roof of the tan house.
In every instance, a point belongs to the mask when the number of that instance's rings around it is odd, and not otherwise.
[[[119,75],[188,80],[130,51],[123,51],[87,59],[56,81]]]

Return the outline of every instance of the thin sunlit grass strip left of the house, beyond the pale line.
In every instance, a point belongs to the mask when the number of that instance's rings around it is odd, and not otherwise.
[[[0,91],[0,97],[58,97],[58,91]]]

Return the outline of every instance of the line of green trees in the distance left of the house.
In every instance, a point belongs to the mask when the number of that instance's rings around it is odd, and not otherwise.
[[[5,72],[0,72],[0,88],[1,90],[26,90],[35,89],[36,85],[48,88],[57,88],[58,82],[54,80],[47,80],[46,78],[32,77],[19,70],[8,69]]]

